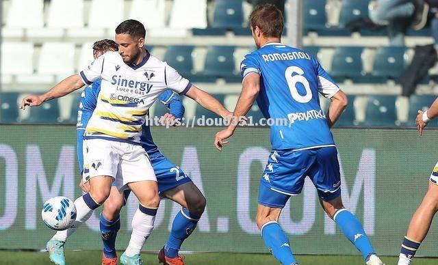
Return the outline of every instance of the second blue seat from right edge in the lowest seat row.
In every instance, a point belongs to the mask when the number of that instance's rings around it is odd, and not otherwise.
[[[396,96],[368,96],[365,126],[396,126]]]

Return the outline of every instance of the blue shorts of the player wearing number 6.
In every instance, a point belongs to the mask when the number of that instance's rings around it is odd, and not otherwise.
[[[290,196],[301,193],[306,176],[324,201],[341,195],[336,148],[272,151],[260,180],[259,204],[283,208]]]

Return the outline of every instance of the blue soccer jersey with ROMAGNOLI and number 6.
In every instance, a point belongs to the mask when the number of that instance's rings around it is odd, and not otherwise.
[[[274,150],[302,150],[335,144],[320,107],[318,93],[331,98],[339,87],[308,53],[281,43],[269,43],[244,57],[243,78],[260,75],[257,104],[271,118]]]

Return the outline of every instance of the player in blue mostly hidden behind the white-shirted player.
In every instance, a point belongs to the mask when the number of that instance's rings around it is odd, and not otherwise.
[[[117,51],[117,44],[113,40],[99,40],[94,42],[93,55],[95,59],[107,51]],[[83,167],[83,134],[85,132],[88,120],[92,112],[96,108],[97,98],[99,96],[101,81],[94,81],[92,85],[86,87],[81,95],[77,115],[77,158],[81,173],[87,174],[88,169]],[[159,101],[162,102],[170,113],[164,115],[164,120],[169,123],[175,123],[175,119],[181,119],[184,115],[184,107],[178,96],[167,90],[159,96]],[[170,162],[161,152],[157,145],[153,142],[149,125],[142,126],[142,136],[140,142],[144,150],[146,150],[151,164],[155,171],[158,180],[158,189],[162,197],[167,197],[181,204],[183,207],[175,217],[172,230],[170,232],[166,246],[159,252],[159,261],[164,264],[184,264],[183,258],[179,256],[179,248],[183,241],[192,234],[196,227],[196,223],[201,218],[205,209],[206,200],[201,191],[196,185],[185,175],[185,173]],[[79,186],[83,191],[88,192],[89,182],[83,182]],[[125,205],[126,199],[129,196],[129,191],[125,190],[123,195],[120,195],[116,186],[111,189],[110,197],[103,204],[103,211],[100,217],[100,228],[103,241],[103,257],[102,264],[116,265],[116,236],[120,229],[119,213]],[[51,240],[56,241],[56,240]],[[52,242],[51,245],[56,245],[57,242]],[[59,245],[59,244],[58,244]],[[49,251],[52,255],[62,255],[62,257],[53,257],[53,260],[63,260],[64,251]]]

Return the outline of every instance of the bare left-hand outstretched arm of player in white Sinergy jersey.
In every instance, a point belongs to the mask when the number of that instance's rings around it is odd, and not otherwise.
[[[68,76],[66,79],[55,85],[52,89],[41,96],[30,95],[23,98],[20,104],[20,109],[25,109],[26,106],[40,106],[40,104],[46,102],[47,100],[66,96],[71,92],[83,87],[83,85],[85,84],[83,83],[79,74],[73,74],[72,76]]]

